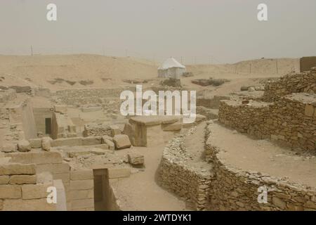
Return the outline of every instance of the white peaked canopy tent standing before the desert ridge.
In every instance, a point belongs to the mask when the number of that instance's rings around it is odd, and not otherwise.
[[[170,77],[180,79],[185,72],[185,66],[179,63],[175,58],[167,58],[158,68],[158,77]]]

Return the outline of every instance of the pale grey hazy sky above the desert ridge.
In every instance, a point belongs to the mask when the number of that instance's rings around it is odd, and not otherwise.
[[[58,20],[46,20],[57,5]],[[259,22],[257,6],[268,5]],[[105,53],[232,63],[316,55],[315,0],[1,0],[0,54]]]

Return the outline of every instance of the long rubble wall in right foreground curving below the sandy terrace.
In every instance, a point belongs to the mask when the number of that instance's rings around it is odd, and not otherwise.
[[[260,172],[246,172],[225,164],[221,149],[211,143],[206,127],[206,159],[213,165],[209,210],[316,210],[316,190]],[[268,203],[258,203],[258,188],[268,190]]]

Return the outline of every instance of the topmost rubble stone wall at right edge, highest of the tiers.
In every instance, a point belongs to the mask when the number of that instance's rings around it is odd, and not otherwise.
[[[316,94],[316,68],[310,72],[289,74],[265,85],[263,98],[274,101],[280,96],[305,92]]]

